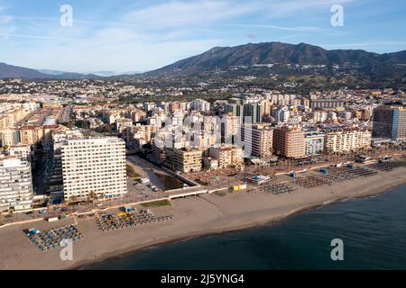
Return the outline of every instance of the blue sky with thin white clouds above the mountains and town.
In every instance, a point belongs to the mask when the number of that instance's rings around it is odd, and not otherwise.
[[[393,52],[406,49],[405,15],[405,0],[0,0],[0,62],[124,73],[267,41]]]

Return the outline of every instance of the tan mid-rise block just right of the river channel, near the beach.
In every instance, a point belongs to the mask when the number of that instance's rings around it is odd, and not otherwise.
[[[166,165],[181,173],[198,172],[202,167],[202,154],[197,148],[167,148]]]

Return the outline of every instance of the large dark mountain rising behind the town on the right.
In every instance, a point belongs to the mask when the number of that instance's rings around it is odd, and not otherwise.
[[[406,50],[378,54],[361,49],[327,50],[318,46],[281,42],[248,43],[235,47],[216,47],[200,55],[185,58],[169,66],[151,71],[152,74],[198,74],[230,67],[261,67],[268,65],[347,66],[360,72],[380,73],[383,67],[406,65]]]

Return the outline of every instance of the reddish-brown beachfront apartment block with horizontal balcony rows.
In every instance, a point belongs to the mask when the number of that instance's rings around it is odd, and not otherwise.
[[[273,130],[273,149],[276,155],[287,158],[306,157],[305,133],[297,126],[283,125]]]

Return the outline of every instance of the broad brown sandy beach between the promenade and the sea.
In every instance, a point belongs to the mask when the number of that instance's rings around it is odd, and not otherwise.
[[[50,229],[73,223],[38,221],[0,229],[0,269],[72,269],[125,253],[183,238],[222,233],[260,226],[342,198],[387,192],[406,183],[406,167],[379,172],[370,177],[317,188],[303,188],[291,194],[248,191],[219,196],[201,194],[171,201],[171,206],[152,208],[156,215],[173,215],[173,220],[132,229],[103,232],[94,218],[79,219],[78,229],[85,238],[73,245],[73,260],[60,260],[60,248],[42,252],[25,237],[23,229]],[[138,207],[137,207],[138,208]]]

